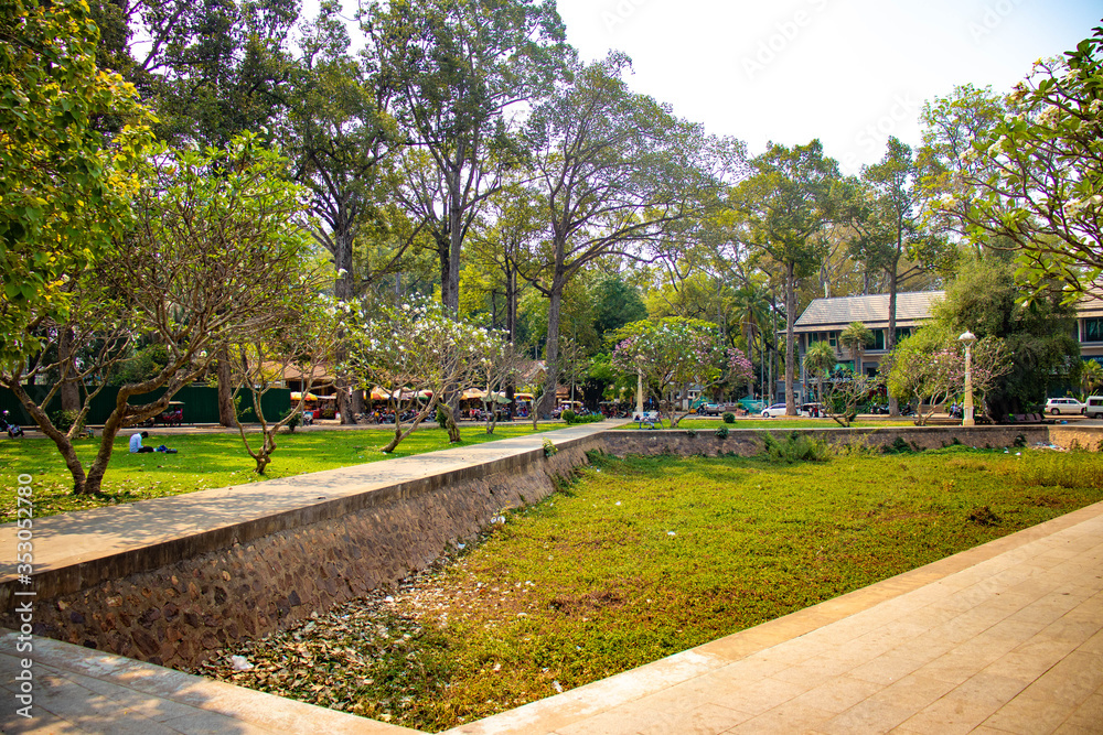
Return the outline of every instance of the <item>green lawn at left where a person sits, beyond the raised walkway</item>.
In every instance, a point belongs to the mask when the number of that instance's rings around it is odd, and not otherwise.
[[[540,428],[542,431],[550,429],[563,429],[563,424]],[[493,434],[488,434],[481,423],[460,426],[465,444],[521,436],[532,431],[533,426],[527,422],[500,423]],[[268,465],[266,475],[260,476],[254,472],[257,465],[246,453],[237,434],[170,435],[158,434],[154,429],[150,430],[150,437],[144,443],[149,446],[167,444],[179,450],[179,454],[130,454],[128,442],[131,432],[128,430],[125,436],[115,440],[115,453],[104,478],[104,494],[99,496],[73,495],[73,476],[54,443],[49,439],[24,437],[0,441],[0,475],[14,478],[25,473],[34,478],[34,514],[41,517],[347,467],[450,446],[445,430],[432,424],[418,429],[393,454],[383,454],[379,447],[386,445],[393,436],[392,432],[393,429],[364,429],[280,434],[272,463]],[[259,434],[257,437],[259,442]],[[98,447],[98,440],[79,440],[76,443],[77,454],[86,467]],[[6,483],[0,487],[0,522],[15,520],[15,483]]]

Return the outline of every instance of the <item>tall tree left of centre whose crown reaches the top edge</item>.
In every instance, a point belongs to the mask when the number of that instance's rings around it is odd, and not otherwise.
[[[507,114],[559,77],[563,21],[548,0],[374,0],[361,23],[420,153],[403,156],[398,197],[432,235],[441,301],[456,312],[463,240],[520,155]]]

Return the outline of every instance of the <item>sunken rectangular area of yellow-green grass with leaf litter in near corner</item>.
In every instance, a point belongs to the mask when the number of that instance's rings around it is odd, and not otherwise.
[[[1103,499],[1088,452],[591,458],[436,569],[200,672],[441,731]]]

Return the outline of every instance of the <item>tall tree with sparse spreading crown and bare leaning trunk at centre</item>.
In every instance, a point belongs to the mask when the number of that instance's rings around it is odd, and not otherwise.
[[[574,84],[537,107],[528,129],[534,198],[547,239],[523,275],[548,298],[547,371],[540,410],[555,400],[564,289],[609,255],[640,257],[695,214],[711,180],[700,130],[632,93],[623,54],[575,72]]]

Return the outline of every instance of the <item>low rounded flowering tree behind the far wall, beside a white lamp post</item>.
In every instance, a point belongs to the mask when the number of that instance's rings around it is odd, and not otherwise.
[[[613,350],[613,369],[622,375],[642,374],[647,388],[666,409],[671,426],[677,426],[689,411],[677,412],[678,397],[689,386],[703,391],[726,381],[739,382],[753,367],[743,353],[725,347],[716,325],[700,320],[672,316],[656,322],[633,322],[620,329],[621,341]]]

